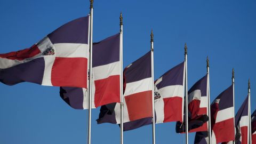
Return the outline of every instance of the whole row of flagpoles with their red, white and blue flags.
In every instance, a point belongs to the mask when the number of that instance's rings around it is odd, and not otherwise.
[[[153,30],[150,51],[123,69],[122,13],[119,19],[118,34],[93,43],[93,0],[90,0],[88,17],[66,23],[29,49],[0,54],[0,82],[60,86],[60,96],[68,105],[88,109],[89,144],[92,108],[99,106],[98,124],[119,124],[121,144],[124,131],[149,124],[155,144],[155,124],[166,122],[177,122],[176,131],[186,133],[187,144],[189,132],[197,132],[195,143],[235,143],[241,133],[239,140],[244,143],[243,125],[247,125],[245,143],[252,143],[255,111],[251,119],[250,81],[247,104],[242,105],[247,106],[246,115],[241,107],[235,116],[234,69],[232,85],[211,105],[208,57],[206,76],[188,90],[186,43],[184,61],[155,80]]]

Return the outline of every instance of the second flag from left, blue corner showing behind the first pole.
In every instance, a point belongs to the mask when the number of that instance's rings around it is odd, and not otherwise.
[[[92,108],[120,102],[120,34],[93,43]],[[87,73],[84,73],[87,74]],[[75,109],[87,109],[87,89],[60,87],[60,97]]]

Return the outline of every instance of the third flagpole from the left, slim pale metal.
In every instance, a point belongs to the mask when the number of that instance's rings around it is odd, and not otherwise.
[[[154,92],[154,35],[153,30],[151,30],[150,34],[151,40],[151,77],[152,77],[152,133],[153,133],[153,144],[156,143],[155,141],[155,92]]]

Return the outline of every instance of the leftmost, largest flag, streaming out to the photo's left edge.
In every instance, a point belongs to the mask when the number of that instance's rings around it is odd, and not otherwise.
[[[89,17],[54,30],[28,49],[0,54],[0,82],[87,87]]]

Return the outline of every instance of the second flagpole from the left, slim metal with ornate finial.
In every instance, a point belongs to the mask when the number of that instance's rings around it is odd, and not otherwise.
[[[120,117],[120,143],[123,144],[123,106],[124,106],[124,99],[123,99],[123,16],[122,12],[120,13],[120,110],[121,110],[121,117]]]

